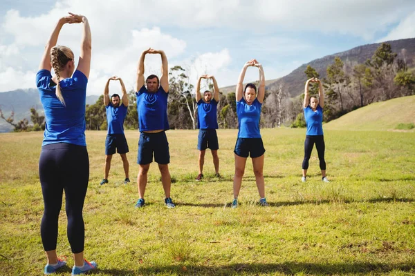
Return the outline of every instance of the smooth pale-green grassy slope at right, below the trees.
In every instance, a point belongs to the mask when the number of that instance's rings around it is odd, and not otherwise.
[[[415,96],[371,103],[324,124],[332,130],[394,130],[398,124],[415,124]],[[412,130],[414,131],[414,130]]]

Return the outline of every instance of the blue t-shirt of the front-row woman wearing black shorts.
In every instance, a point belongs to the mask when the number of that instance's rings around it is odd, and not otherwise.
[[[249,105],[245,99],[237,101],[238,138],[261,138],[259,119],[261,118],[262,103],[255,99]]]

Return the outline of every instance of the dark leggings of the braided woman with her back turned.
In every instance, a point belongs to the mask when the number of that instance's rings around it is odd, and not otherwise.
[[[39,178],[44,197],[44,215],[40,226],[45,251],[55,250],[57,221],[65,190],[68,241],[72,253],[84,250],[82,208],[89,181],[89,157],[86,146],[58,143],[42,147]]]

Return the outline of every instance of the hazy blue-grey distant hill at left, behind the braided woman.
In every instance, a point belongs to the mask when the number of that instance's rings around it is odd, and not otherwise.
[[[95,103],[98,95],[86,97],[86,104]],[[28,119],[30,121],[30,108],[36,108],[37,112],[43,114],[42,103],[40,103],[37,89],[18,89],[0,93],[0,108],[4,117],[9,117],[12,111],[15,112],[15,121]],[[0,118],[0,132],[10,132],[13,127]]]

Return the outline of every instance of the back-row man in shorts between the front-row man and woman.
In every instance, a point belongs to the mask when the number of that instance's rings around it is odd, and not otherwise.
[[[201,79],[212,79],[213,81],[213,95],[212,92],[206,90],[201,97]],[[213,98],[213,99],[212,99]],[[210,148],[213,157],[214,171],[216,177],[219,175],[219,157],[218,157],[218,135],[216,129],[218,128],[218,119],[216,115],[217,106],[219,102],[219,87],[216,79],[210,75],[202,75],[199,77],[196,86],[196,103],[197,103],[197,127],[199,128],[199,137],[197,149],[199,152],[199,175],[196,177],[197,181],[203,178],[203,164],[205,164],[206,148]]]

